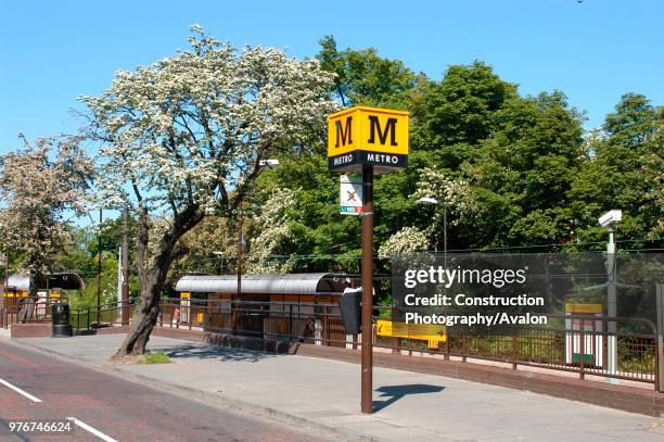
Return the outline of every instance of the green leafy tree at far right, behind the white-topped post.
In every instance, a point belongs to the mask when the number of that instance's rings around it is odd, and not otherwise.
[[[597,241],[605,232],[597,218],[621,209],[623,239],[649,240],[664,235],[662,109],[636,93],[621,98],[599,130],[587,140],[585,164],[570,190],[578,237]]]

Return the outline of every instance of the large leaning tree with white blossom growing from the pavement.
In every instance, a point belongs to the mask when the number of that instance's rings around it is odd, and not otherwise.
[[[82,98],[85,132],[101,143],[101,197],[129,204],[140,225],[141,296],[118,357],[143,353],[168,269],[186,253],[179,239],[206,214],[237,213],[260,161],[320,140],[334,110],[333,76],[317,62],[261,47],[239,51],[192,31],[190,50],[117,72],[101,96]]]

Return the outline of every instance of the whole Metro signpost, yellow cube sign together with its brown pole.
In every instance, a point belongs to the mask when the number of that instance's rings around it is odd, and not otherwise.
[[[408,165],[408,113],[356,106],[328,117],[328,166],[362,174],[361,411],[373,413],[373,175]],[[344,194],[342,194],[342,203]]]

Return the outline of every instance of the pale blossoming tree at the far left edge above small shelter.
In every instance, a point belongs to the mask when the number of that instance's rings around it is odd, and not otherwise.
[[[0,156],[0,238],[35,282],[21,312],[26,319],[44,273],[72,240],[66,216],[85,212],[92,162],[76,139],[22,138],[24,149]]]

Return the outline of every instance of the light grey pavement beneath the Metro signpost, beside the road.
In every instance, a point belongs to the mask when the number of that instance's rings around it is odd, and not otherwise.
[[[163,365],[108,362],[124,334],[14,340],[98,369],[245,411],[379,441],[664,441],[664,419],[442,376],[374,367],[359,413],[356,364],[153,337]],[[0,338],[1,342],[1,338]],[[267,439],[270,440],[270,439]]]

